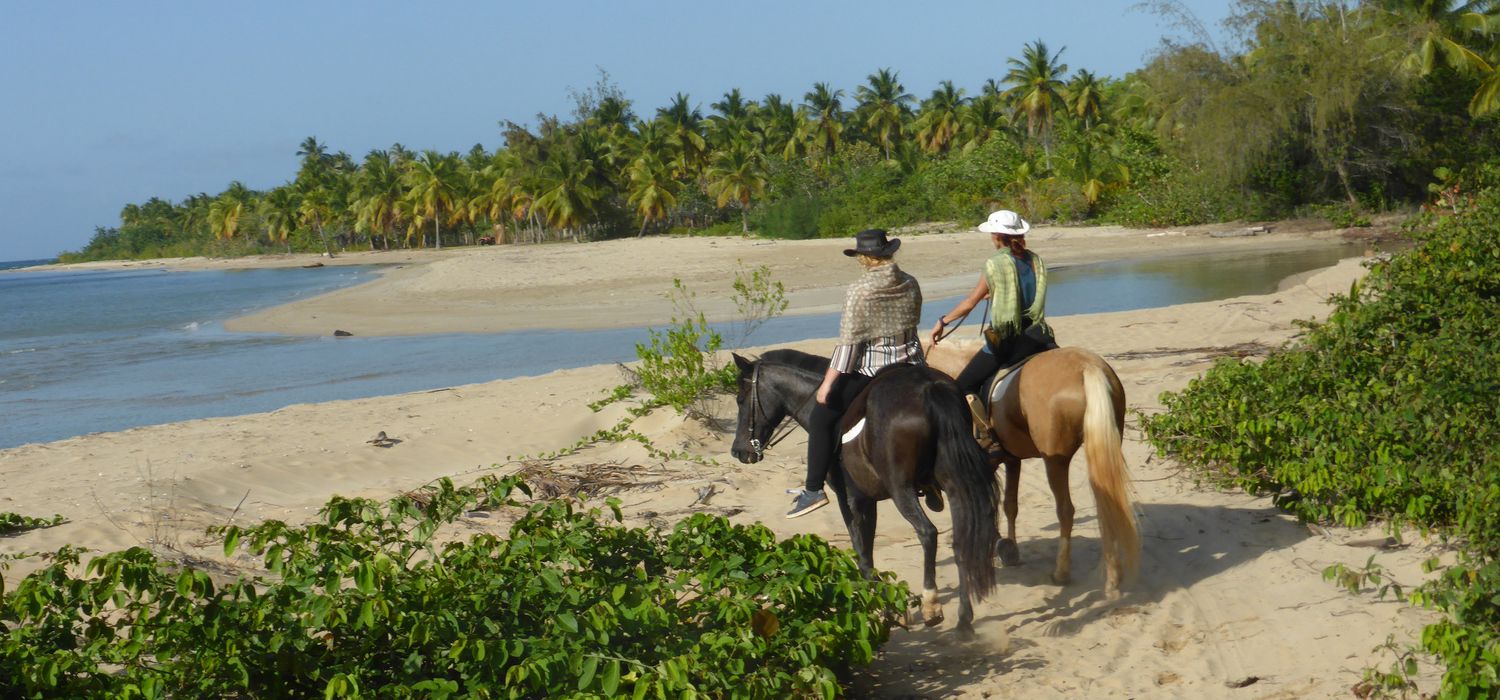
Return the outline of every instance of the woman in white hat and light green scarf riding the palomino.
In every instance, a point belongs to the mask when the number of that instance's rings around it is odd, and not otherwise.
[[[1032,351],[1054,348],[1056,343],[1050,342],[1052,328],[1047,327],[1042,312],[1047,304],[1047,265],[1041,256],[1026,250],[1026,232],[1030,231],[1030,223],[1016,211],[1000,210],[990,214],[988,220],[980,225],[980,231],[990,234],[999,252],[984,261],[980,283],[969,297],[958,301],[951,312],[938,316],[932,340],[936,346],[948,324],[962,319],[986,297],[990,298],[990,331],[986,331],[984,348],[975,352],[974,360],[969,360],[957,378],[958,390],[964,393],[974,411],[975,427],[982,426],[980,435],[988,438],[988,411],[986,402],[980,400],[980,385],[1000,367],[1014,364]],[[1046,343],[1038,345],[1026,337],[1024,331],[1032,325],[1046,331]]]

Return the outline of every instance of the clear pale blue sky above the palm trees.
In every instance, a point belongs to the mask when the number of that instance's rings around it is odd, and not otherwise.
[[[852,93],[880,67],[972,96],[1036,39],[1124,76],[1184,36],[1137,1],[0,0],[0,261],[76,250],[129,202],[282,184],[306,136],[356,160],[494,150],[500,121],[567,117],[600,69],[642,115],[678,91],[704,114],[734,87]],[[1230,0],[1180,4],[1222,36]]]

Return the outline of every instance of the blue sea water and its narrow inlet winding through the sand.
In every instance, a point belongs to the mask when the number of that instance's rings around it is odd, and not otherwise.
[[[1264,294],[1287,276],[1348,255],[1329,247],[1059,268],[1048,282],[1047,313]],[[21,264],[0,262],[4,267]],[[225,319],[375,274],[360,267],[0,273],[0,448],[630,361],[636,343],[650,337],[646,328],[402,337],[224,330]],[[928,300],[921,328],[956,301]],[[838,315],[783,316],[748,337],[738,337],[732,324],[723,331],[747,346],[832,337]]]

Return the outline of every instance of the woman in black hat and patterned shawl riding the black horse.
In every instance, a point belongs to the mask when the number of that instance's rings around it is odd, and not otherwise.
[[[807,421],[807,484],[786,517],[806,516],[824,505],[824,480],[837,448],[838,417],[876,372],[896,364],[922,364],[922,345],[916,322],[922,312],[922,289],[916,279],[902,271],[892,256],[900,238],[886,240],[885,231],[860,231],[855,247],[844,255],[864,265],[864,274],[849,285],[844,313],[838,322],[838,346],[818,387],[818,403]]]

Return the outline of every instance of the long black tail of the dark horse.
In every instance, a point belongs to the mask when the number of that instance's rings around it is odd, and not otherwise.
[[[969,408],[950,382],[930,382],[924,403],[936,439],[933,465],[938,483],[952,505],[952,550],[958,580],[975,600],[994,589],[994,526],[999,493],[994,469],[974,441]]]

